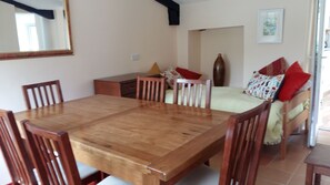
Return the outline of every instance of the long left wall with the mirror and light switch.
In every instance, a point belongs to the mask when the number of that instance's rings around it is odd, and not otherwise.
[[[177,63],[176,27],[154,0],[70,0],[70,13],[73,55],[0,61],[0,109],[26,109],[22,84],[59,79],[71,100],[93,94],[93,79]],[[130,61],[132,53],[140,61]]]

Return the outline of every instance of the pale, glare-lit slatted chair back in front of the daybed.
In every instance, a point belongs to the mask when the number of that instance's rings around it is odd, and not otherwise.
[[[177,79],[173,88],[173,104],[210,109],[211,84],[211,80]]]

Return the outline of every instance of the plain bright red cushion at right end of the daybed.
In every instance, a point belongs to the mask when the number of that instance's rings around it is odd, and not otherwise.
[[[291,100],[294,93],[309,80],[310,74],[304,73],[296,61],[286,72],[283,85],[279,93],[280,101]]]

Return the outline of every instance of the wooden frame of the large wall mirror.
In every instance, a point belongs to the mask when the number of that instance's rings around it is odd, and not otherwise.
[[[70,7],[69,0],[63,0],[64,12],[68,23],[68,38],[70,41],[69,49],[66,50],[44,50],[44,51],[24,51],[24,52],[0,52],[0,60],[12,59],[27,59],[27,58],[43,58],[43,56],[57,56],[57,55],[70,55],[73,54],[73,44],[71,37],[71,21],[70,21]]]

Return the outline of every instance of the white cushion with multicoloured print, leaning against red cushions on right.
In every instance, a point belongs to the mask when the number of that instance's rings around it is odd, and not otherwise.
[[[283,79],[284,74],[269,76],[254,72],[252,79],[248,83],[247,90],[244,90],[244,93],[272,102]]]

